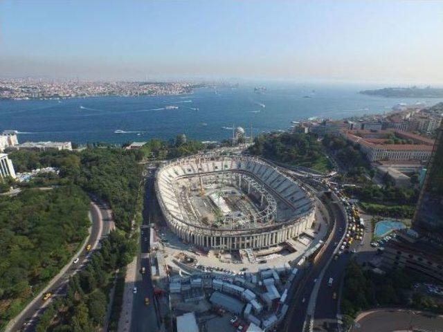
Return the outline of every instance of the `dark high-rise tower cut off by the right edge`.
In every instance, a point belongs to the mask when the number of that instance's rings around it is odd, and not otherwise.
[[[443,244],[443,122],[437,130],[413,226],[426,237]]]

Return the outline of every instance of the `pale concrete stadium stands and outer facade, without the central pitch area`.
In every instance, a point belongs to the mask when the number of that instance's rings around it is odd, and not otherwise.
[[[211,228],[200,223],[192,211],[181,207],[174,190],[176,181],[221,173],[233,177],[234,182],[246,192],[256,190],[257,194],[262,195],[262,205],[265,197],[266,201],[271,202],[260,211],[260,224],[247,223],[250,219],[255,221],[255,216],[244,216],[224,228]],[[244,175],[253,181],[246,182]],[[276,246],[311,228],[315,219],[314,200],[300,183],[262,160],[246,156],[174,160],[157,171],[156,195],[170,230],[184,241],[201,248],[239,250]],[[273,206],[277,204],[273,203],[273,198],[280,202],[280,209],[285,211],[287,219],[275,219]],[[240,221],[244,221],[244,226],[238,227]]]

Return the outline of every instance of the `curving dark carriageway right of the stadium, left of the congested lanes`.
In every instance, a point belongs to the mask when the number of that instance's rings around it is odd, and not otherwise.
[[[331,207],[332,212],[335,216],[336,229],[334,234],[332,235],[331,241],[325,244],[325,246],[327,247],[325,248],[323,255],[321,255],[321,257],[316,261],[316,264],[303,271],[304,277],[300,282],[300,291],[298,291],[296,296],[291,299],[291,304],[293,307],[289,310],[287,324],[285,326],[286,331],[302,331],[303,324],[307,315],[309,297],[311,297],[311,293],[314,290],[314,286],[316,285],[316,283],[320,282],[320,280],[318,280],[318,277],[320,276],[323,268],[325,268],[325,266],[327,265],[330,257],[332,257],[333,252],[336,248],[336,243],[341,240],[341,237],[343,237],[343,234],[345,232],[346,219],[340,208],[339,203],[332,203],[329,201],[328,205]],[[327,275],[325,275],[325,278],[326,276]],[[321,303],[322,298],[323,295],[321,294],[320,290],[317,299],[317,304],[319,304],[319,306],[316,306],[316,310],[319,311],[318,315],[320,316],[325,315],[325,313],[329,310],[329,308],[326,308],[326,306]]]

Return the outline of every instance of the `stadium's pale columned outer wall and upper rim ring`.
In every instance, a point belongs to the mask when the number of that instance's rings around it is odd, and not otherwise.
[[[201,157],[200,157],[201,158]],[[208,157],[203,158],[205,161],[208,161]],[[165,201],[163,201],[163,196],[160,194],[159,190],[159,177],[161,176],[161,172],[163,172],[165,169],[168,169],[169,167],[175,167],[180,165],[189,165],[189,163],[195,163],[197,160],[196,156],[193,157],[187,157],[187,158],[179,158],[176,160],[172,160],[169,163],[163,165],[160,167],[156,172],[156,181],[155,181],[155,190],[156,190],[156,196],[159,201],[159,205],[161,207],[161,210],[163,212],[163,216],[165,218],[165,221],[168,225],[168,228],[174,232],[177,237],[183,239],[183,241],[187,241],[189,243],[195,244],[195,246],[201,247],[201,248],[214,248],[214,249],[222,249],[222,250],[239,250],[239,249],[261,249],[261,248],[269,248],[271,246],[277,246],[280,243],[283,243],[284,241],[287,241],[289,239],[292,239],[293,237],[297,237],[305,230],[311,228],[312,223],[314,223],[315,220],[315,203],[314,199],[309,198],[309,195],[307,192],[305,194],[311,201],[311,207],[309,210],[302,212],[300,214],[297,214],[293,218],[283,221],[274,223],[273,225],[268,225],[262,228],[253,228],[253,229],[235,229],[235,230],[218,230],[217,228],[209,228],[205,225],[196,225],[189,223],[188,221],[185,221],[183,218],[177,217],[177,215],[173,214],[170,211],[170,208],[165,204]],[[199,163],[201,163],[201,159],[199,159]],[[277,172],[278,176],[282,176],[286,178],[286,181],[291,181],[295,183],[292,179],[289,179],[287,176],[282,174],[278,171],[278,169],[275,169],[272,165],[264,162],[264,160],[248,157],[248,156],[237,156],[237,157],[227,157],[227,156],[218,156],[214,157],[212,156],[210,161],[213,162],[215,160],[216,162],[226,162],[226,160],[234,161],[235,163],[241,162],[241,163],[260,163],[262,167],[269,167],[272,168],[271,172]],[[196,169],[193,169],[196,171]],[[204,174],[210,174],[210,173],[217,173],[217,172],[226,172],[230,171],[231,169],[224,169],[221,168],[219,171],[213,171],[213,172],[205,172]],[[232,169],[234,170],[234,169]],[[242,171],[241,169],[235,169],[236,172]],[[242,171],[245,173],[248,173],[249,176],[255,176],[253,172],[247,172]],[[199,171],[191,173],[191,174],[182,174],[181,176],[198,176]],[[180,175],[179,175],[180,176]],[[258,179],[258,178],[257,178]],[[259,179],[260,180],[260,179]],[[260,181],[262,182],[262,181]],[[268,187],[273,194],[278,196],[280,199],[284,199],[282,196],[278,194],[277,191],[272,190],[271,187],[266,185],[266,183],[262,183],[262,185],[265,185],[265,187]],[[302,190],[300,188],[300,190]],[[286,200],[287,201],[287,200]],[[178,203],[176,202],[178,205]]]

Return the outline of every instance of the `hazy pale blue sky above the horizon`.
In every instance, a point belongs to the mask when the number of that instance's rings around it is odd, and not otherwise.
[[[0,76],[443,85],[443,1],[0,0]]]

